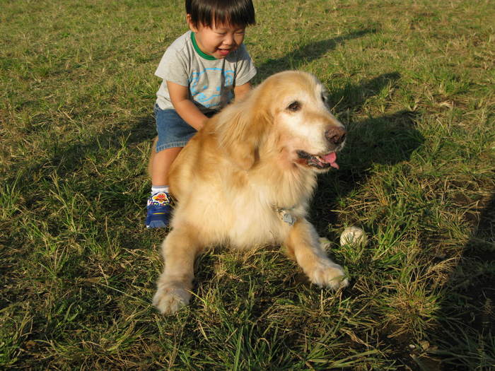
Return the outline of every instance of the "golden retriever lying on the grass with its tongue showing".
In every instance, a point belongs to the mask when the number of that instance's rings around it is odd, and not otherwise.
[[[338,167],[344,126],[315,76],[285,71],[206,122],[170,169],[176,206],[153,298],[163,314],[191,298],[194,259],[206,247],[284,245],[312,283],[348,285],[306,217],[318,173]]]

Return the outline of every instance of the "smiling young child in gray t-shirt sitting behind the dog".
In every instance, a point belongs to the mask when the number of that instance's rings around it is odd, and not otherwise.
[[[251,88],[256,69],[243,45],[255,24],[252,0],[186,0],[190,31],[168,47],[156,69],[163,78],[155,104],[158,142],[151,164],[147,228],[170,218],[168,170],[204,122]]]

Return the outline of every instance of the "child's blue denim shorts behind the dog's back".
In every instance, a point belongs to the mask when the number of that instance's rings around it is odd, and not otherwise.
[[[162,110],[155,104],[154,111],[156,131],[158,131],[156,152],[183,147],[196,134],[196,129],[187,124],[175,110]]]

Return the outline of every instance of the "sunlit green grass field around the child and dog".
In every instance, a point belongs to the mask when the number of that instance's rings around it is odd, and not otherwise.
[[[255,83],[315,73],[349,129],[311,220],[351,285],[216,249],[162,317],[146,160],[182,3],[0,0],[0,368],[494,370],[494,2],[255,1]]]

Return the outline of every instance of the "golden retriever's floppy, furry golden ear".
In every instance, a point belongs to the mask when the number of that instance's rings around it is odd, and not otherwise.
[[[233,103],[216,116],[216,135],[221,151],[243,170],[255,165],[269,119],[264,110],[256,109],[254,97]]]

